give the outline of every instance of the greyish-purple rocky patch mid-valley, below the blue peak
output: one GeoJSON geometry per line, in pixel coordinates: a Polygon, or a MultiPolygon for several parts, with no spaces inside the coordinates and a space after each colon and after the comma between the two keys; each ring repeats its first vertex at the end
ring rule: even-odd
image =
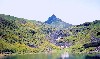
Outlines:
{"type": "Polygon", "coordinates": [[[57,46],[71,46],[70,42],[58,42],[59,39],[63,40],[64,37],[70,36],[69,32],[64,32],[63,30],[57,30],[50,34],[50,42],[57,46]]]}

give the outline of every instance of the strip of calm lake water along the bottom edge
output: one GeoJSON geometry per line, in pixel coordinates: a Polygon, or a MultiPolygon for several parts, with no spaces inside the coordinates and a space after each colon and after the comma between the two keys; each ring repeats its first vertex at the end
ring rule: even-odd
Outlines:
{"type": "Polygon", "coordinates": [[[49,53],[49,54],[26,54],[26,55],[14,55],[6,56],[1,59],[100,59],[100,55],[80,55],[80,54],[68,54],[68,53],[49,53]]]}

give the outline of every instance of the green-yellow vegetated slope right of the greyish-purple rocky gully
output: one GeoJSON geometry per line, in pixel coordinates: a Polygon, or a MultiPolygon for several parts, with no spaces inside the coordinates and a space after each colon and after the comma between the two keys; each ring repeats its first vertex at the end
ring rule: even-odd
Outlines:
{"type": "Polygon", "coordinates": [[[66,40],[73,42],[68,49],[72,53],[91,53],[100,51],[100,20],[72,27],[72,35],[66,40]]]}

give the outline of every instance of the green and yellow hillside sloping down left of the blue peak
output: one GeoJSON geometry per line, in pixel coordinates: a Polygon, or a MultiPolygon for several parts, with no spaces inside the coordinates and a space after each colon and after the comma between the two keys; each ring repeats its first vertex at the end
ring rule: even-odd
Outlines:
{"type": "Polygon", "coordinates": [[[37,53],[59,49],[46,39],[49,26],[35,20],[0,14],[0,53],[37,53]]]}

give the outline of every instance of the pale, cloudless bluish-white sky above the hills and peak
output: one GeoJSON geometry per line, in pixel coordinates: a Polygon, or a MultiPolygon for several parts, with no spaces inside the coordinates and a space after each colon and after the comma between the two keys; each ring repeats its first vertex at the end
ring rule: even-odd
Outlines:
{"type": "Polygon", "coordinates": [[[100,0],[0,0],[0,14],[42,22],[55,14],[79,25],[100,20],[100,0]]]}

